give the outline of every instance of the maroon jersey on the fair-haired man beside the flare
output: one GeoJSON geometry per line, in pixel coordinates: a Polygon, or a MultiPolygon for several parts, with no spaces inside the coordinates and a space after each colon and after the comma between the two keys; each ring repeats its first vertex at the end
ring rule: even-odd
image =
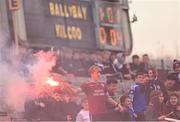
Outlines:
{"type": "Polygon", "coordinates": [[[81,85],[82,91],[87,95],[90,114],[106,113],[105,85],[99,82],[87,82],[81,85]]]}

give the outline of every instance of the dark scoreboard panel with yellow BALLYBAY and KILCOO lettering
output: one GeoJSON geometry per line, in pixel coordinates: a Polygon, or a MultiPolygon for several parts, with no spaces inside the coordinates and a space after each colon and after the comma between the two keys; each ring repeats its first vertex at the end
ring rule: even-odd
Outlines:
{"type": "Polygon", "coordinates": [[[82,0],[24,0],[30,43],[96,48],[92,4],[82,0]]]}

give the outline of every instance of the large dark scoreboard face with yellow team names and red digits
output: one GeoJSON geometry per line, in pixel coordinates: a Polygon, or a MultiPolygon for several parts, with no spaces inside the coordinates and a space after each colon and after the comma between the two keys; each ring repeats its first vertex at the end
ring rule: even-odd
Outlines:
{"type": "Polygon", "coordinates": [[[27,40],[50,47],[126,51],[126,0],[109,1],[23,0],[27,40]]]}

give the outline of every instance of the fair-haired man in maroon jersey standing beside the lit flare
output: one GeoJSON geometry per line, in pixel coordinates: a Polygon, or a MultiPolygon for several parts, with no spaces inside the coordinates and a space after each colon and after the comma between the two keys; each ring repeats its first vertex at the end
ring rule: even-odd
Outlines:
{"type": "Polygon", "coordinates": [[[105,121],[107,115],[106,101],[110,100],[115,106],[119,104],[108,98],[104,82],[100,80],[101,69],[93,65],[89,68],[90,80],[81,85],[82,91],[87,95],[90,116],[93,121],[105,121]]]}

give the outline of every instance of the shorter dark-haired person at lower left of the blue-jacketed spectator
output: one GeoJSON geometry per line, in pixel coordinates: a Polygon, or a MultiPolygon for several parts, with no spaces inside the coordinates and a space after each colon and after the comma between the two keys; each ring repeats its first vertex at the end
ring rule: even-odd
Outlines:
{"type": "Polygon", "coordinates": [[[120,98],[121,104],[123,106],[124,111],[122,112],[122,120],[123,121],[135,121],[137,115],[134,113],[132,100],[129,96],[123,95],[120,98]]]}

